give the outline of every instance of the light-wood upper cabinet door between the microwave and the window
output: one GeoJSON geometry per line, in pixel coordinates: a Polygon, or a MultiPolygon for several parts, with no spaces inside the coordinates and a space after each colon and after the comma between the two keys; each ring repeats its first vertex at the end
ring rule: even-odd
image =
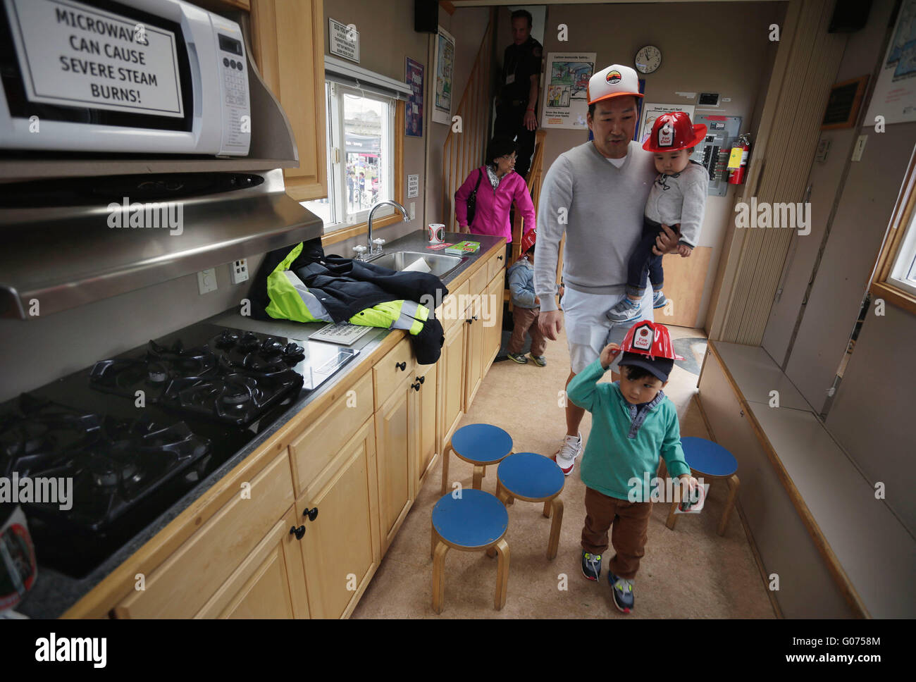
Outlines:
{"type": "Polygon", "coordinates": [[[257,69],[286,112],[296,139],[299,168],[284,169],[283,179],[287,194],[298,201],[328,196],[325,26],[323,0],[251,0],[257,69]]]}

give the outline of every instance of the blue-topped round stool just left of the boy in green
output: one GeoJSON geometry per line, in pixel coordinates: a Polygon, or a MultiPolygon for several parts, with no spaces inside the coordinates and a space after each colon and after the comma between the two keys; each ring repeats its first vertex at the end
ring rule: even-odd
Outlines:
{"type": "Polygon", "coordinates": [[[512,498],[526,502],[544,503],[543,514],[551,521],[551,537],[547,542],[547,558],[557,556],[560,527],[563,523],[563,501],[560,493],[566,477],[555,461],[535,452],[517,452],[499,462],[496,469],[496,496],[509,503],[512,498]]]}

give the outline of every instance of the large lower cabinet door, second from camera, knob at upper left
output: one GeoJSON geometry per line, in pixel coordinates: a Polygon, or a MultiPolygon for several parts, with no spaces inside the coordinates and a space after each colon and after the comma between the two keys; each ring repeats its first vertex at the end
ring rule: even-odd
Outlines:
{"type": "Polygon", "coordinates": [[[312,618],[340,618],[356,601],[378,566],[376,439],[367,419],[341,449],[339,466],[311,499],[297,501],[300,543],[312,618]],[[303,516],[317,508],[314,521],[303,516]]]}

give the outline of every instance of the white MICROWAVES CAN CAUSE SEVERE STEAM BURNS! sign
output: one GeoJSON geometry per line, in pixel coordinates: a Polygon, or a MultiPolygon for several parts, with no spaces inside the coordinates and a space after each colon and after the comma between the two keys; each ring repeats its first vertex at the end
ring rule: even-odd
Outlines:
{"type": "Polygon", "coordinates": [[[70,0],[5,0],[29,102],[184,116],[175,34],[70,0]]]}

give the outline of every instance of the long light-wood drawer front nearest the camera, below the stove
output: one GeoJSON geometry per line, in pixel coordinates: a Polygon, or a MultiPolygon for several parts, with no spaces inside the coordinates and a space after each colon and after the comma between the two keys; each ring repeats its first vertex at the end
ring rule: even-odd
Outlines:
{"type": "Polygon", "coordinates": [[[146,590],[127,597],[120,618],[188,618],[199,612],[293,503],[284,450],[147,576],[146,590]]]}

